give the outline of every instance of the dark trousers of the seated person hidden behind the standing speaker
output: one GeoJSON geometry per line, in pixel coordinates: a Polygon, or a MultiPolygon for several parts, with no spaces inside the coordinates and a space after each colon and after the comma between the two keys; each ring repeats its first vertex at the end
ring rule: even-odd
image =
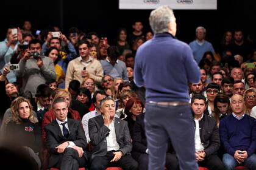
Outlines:
{"type": "MultiPolygon", "coordinates": [[[[138,161],[138,170],[147,170],[149,155],[146,153],[132,152],[132,157],[138,161]]],[[[165,168],[168,170],[179,170],[176,154],[166,153],[165,168]]]]}

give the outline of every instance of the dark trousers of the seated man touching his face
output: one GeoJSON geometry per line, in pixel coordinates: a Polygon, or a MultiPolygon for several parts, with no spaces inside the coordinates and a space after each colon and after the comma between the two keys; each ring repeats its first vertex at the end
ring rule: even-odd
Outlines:
{"type": "Polygon", "coordinates": [[[90,170],[105,170],[107,167],[118,166],[124,170],[136,170],[138,163],[131,155],[123,155],[118,161],[110,162],[114,158],[113,152],[108,151],[104,156],[96,156],[91,160],[90,170]]]}

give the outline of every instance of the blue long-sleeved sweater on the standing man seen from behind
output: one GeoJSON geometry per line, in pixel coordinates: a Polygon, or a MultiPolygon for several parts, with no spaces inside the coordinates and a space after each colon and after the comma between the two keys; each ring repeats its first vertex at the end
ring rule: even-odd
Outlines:
{"type": "Polygon", "coordinates": [[[200,80],[190,47],[169,33],[157,34],[145,42],[135,60],[135,82],[146,86],[148,101],[188,102],[187,83],[200,80]]]}

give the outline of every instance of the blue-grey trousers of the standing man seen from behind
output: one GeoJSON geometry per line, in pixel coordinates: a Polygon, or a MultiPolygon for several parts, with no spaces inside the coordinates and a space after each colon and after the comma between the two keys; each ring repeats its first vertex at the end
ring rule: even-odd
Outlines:
{"type": "Polygon", "coordinates": [[[149,149],[149,170],[164,169],[169,140],[176,151],[180,170],[198,169],[194,149],[191,108],[147,103],[144,118],[149,149]]]}

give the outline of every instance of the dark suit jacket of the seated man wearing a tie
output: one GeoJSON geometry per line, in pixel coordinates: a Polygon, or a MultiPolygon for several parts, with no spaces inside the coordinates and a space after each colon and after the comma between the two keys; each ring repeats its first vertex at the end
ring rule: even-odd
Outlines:
{"type": "MultiPolygon", "coordinates": [[[[56,120],[44,127],[46,131],[46,145],[48,147],[50,158],[49,167],[54,166],[61,158],[62,154],[59,154],[55,147],[65,141],[73,141],[76,146],[83,148],[87,147],[87,140],[81,123],[77,120],[68,118],[69,137],[66,138],[62,135],[60,126],[56,120]]],[[[87,154],[84,152],[84,157],[87,159],[87,154]]]]}

